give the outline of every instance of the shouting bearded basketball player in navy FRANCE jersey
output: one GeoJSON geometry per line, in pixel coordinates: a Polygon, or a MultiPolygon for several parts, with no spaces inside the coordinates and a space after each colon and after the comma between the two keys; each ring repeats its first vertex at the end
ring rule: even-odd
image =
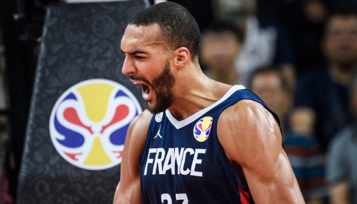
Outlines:
{"type": "Polygon", "coordinates": [[[122,72],[147,110],[129,126],[114,203],[304,203],[276,115],[243,86],[207,78],[199,40],[175,3],[129,22],[122,72]]]}

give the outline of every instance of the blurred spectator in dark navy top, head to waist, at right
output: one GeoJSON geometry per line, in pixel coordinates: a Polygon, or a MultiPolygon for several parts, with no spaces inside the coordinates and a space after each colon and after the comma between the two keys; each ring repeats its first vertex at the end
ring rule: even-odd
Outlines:
{"type": "Polygon", "coordinates": [[[352,118],[347,84],[357,64],[357,14],[331,15],[322,47],[329,66],[301,77],[291,122],[296,134],[315,135],[325,150],[331,138],[352,118]]]}

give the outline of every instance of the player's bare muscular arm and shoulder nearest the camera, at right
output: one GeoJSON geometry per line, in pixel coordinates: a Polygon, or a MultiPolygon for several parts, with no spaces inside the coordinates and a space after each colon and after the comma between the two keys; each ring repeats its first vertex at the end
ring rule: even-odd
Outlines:
{"type": "Polygon", "coordinates": [[[222,112],[217,127],[228,158],[242,166],[255,203],[304,203],[280,129],[267,109],[242,100],[222,112]]]}

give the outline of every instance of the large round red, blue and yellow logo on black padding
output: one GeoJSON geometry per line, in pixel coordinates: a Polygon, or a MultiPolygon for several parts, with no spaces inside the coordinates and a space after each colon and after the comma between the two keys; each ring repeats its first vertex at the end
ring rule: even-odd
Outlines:
{"type": "Polygon", "coordinates": [[[105,79],[82,81],[53,107],[51,139],[70,164],[107,169],[122,162],[129,123],[140,112],[138,101],[123,85],[105,79]]]}

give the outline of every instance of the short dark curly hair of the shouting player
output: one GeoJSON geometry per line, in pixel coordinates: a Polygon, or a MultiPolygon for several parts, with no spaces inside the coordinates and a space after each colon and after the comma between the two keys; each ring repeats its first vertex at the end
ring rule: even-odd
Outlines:
{"type": "Polygon", "coordinates": [[[198,55],[200,29],[195,18],[179,4],[164,2],[137,13],[129,25],[150,26],[158,24],[169,46],[176,50],[185,47],[192,59],[198,55]]]}

